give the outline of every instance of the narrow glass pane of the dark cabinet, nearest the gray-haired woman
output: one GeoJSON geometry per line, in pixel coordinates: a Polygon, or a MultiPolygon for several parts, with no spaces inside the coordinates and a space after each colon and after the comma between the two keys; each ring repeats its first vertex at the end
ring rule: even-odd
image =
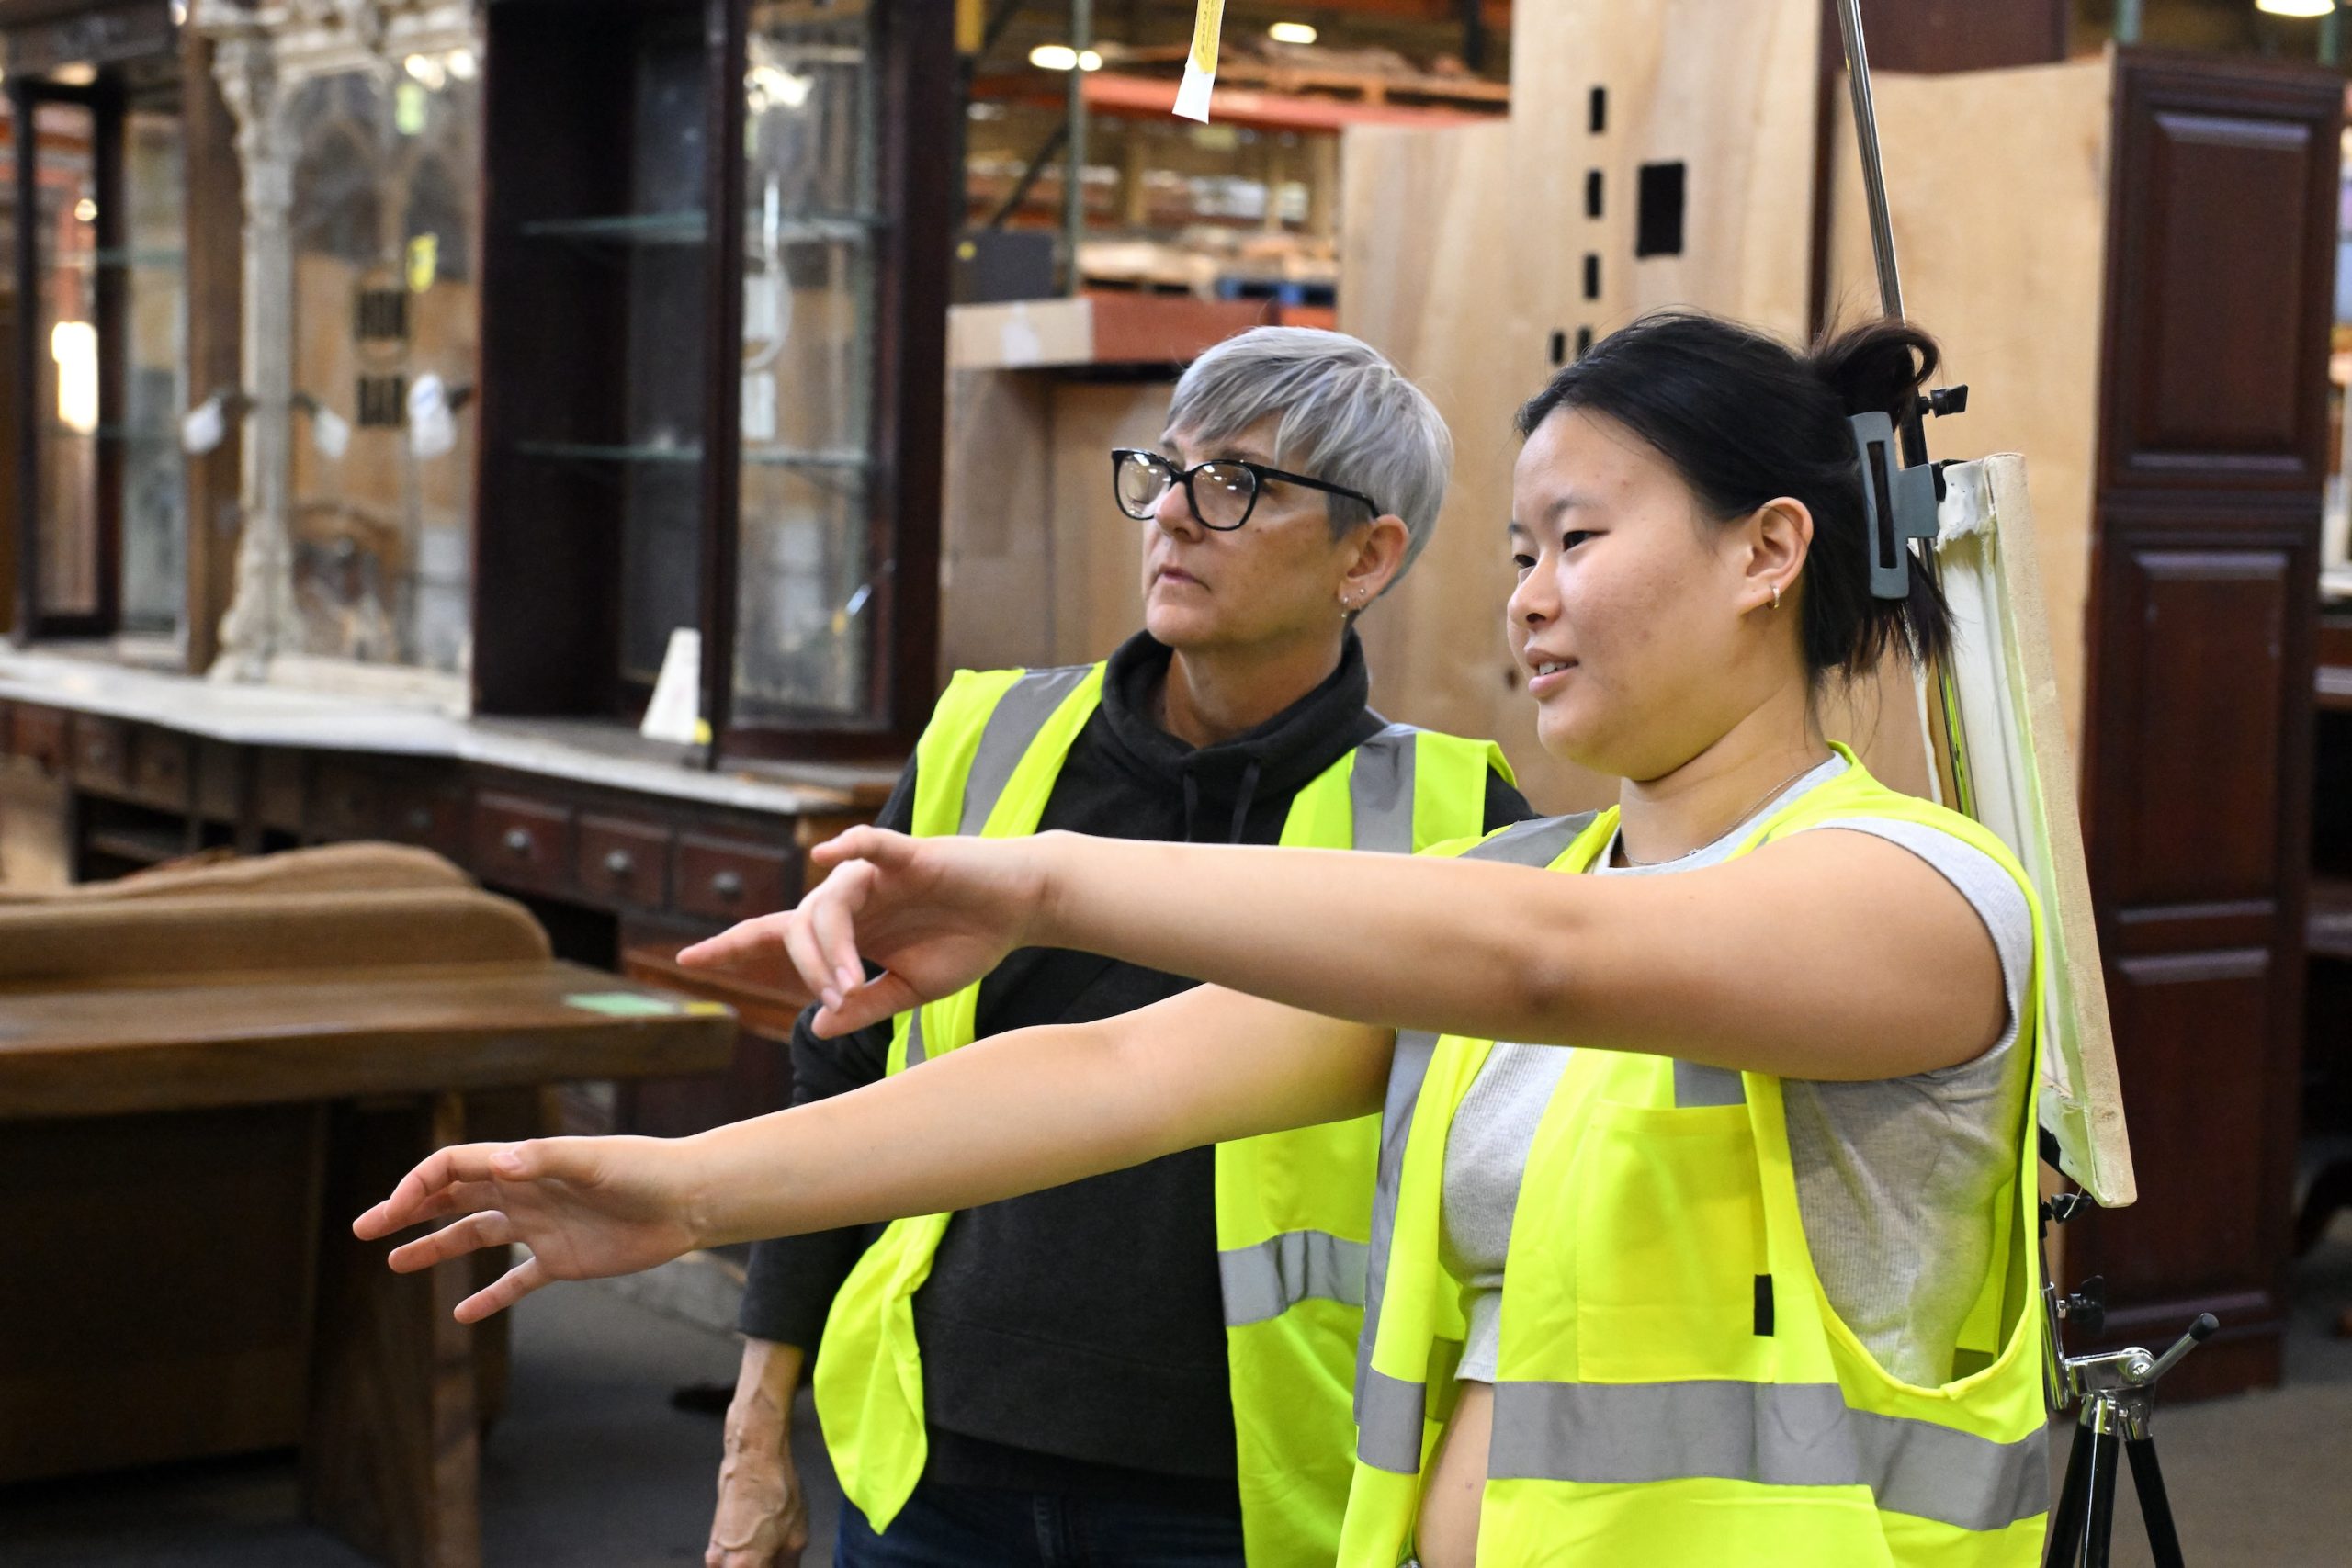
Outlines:
{"type": "Polygon", "coordinates": [[[875,19],[753,5],[734,722],[873,708],[875,19]]]}

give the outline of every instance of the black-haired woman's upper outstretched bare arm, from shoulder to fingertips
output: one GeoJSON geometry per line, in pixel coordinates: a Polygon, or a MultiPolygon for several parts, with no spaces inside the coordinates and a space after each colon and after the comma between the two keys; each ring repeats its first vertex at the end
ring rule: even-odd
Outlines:
{"type": "Polygon", "coordinates": [[[1999,957],[1907,849],[1804,832],[1675,877],[1308,849],[1040,835],[816,851],[797,910],[684,957],[795,969],[856,1027],[1021,945],[1084,947],[1390,1030],[1653,1051],[1806,1079],[1889,1079],[1983,1053],[1999,957]],[[858,957],[887,966],[868,983],[858,957]]]}

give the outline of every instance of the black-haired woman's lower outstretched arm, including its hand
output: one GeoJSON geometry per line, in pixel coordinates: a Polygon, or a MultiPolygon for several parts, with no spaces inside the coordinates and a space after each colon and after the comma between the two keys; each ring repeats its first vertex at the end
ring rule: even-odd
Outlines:
{"type": "Polygon", "coordinates": [[[1018,1030],[856,1093],[694,1138],[463,1145],[353,1225],[463,1215],[393,1251],[400,1272],[482,1246],[532,1260],[461,1321],[550,1279],[654,1267],[696,1246],[971,1208],[1160,1154],[1378,1110],[1392,1037],[1225,990],[1103,1023],[1018,1030]]]}

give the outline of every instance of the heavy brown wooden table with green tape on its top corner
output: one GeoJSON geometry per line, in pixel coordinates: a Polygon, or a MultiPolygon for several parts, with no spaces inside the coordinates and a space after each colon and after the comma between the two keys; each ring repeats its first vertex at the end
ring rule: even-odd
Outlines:
{"type": "Polygon", "coordinates": [[[449,1309],[503,1260],[393,1274],[350,1220],[440,1145],[529,1133],[482,1091],[708,1072],[731,1032],[548,961],[9,990],[0,1479],[299,1443],[315,1521],[473,1568],[503,1340],[449,1309]]]}

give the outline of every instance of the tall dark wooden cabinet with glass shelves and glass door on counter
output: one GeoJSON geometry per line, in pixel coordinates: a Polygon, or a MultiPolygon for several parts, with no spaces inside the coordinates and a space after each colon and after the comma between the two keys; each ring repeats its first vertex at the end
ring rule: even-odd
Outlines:
{"type": "Polygon", "coordinates": [[[953,7],[496,0],[487,31],[477,710],[635,717],[699,628],[720,752],[903,755],[953,7]]]}

